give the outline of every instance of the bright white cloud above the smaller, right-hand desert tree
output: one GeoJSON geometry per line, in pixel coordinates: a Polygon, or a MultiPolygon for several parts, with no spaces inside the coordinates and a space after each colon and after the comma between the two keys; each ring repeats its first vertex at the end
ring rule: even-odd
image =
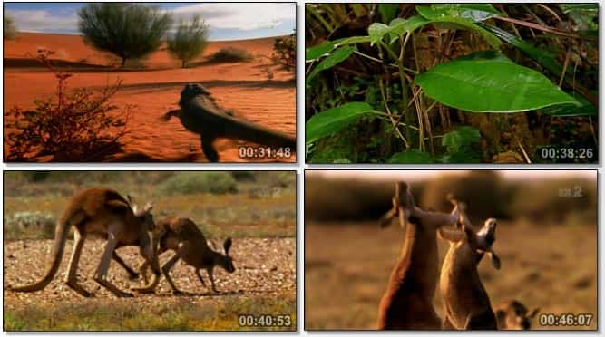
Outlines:
{"type": "Polygon", "coordinates": [[[290,22],[296,25],[296,4],[286,3],[222,3],[191,4],[171,10],[176,19],[200,14],[213,29],[239,29],[249,31],[273,28],[290,22]]]}

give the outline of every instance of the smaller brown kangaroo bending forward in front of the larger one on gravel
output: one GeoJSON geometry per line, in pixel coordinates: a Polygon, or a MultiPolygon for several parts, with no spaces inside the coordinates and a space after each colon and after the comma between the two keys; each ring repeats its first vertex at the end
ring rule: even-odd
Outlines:
{"type": "MultiPolygon", "coordinates": [[[[225,254],[220,254],[213,251],[208,246],[206,237],[201,233],[200,228],[188,218],[171,217],[164,218],[157,224],[157,229],[154,232],[155,240],[158,242],[158,253],[161,255],[165,251],[171,249],[175,252],[174,255],[161,266],[161,272],[166,276],[166,281],[171,285],[174,294],[182,294],[172,282],[170,271],[172,267],[182,259],[187,265],[195,268],[195,274],[198,275],[201,285],[205,288],[206,283],[201,277],[200,269],[206,269],[206,273],[210,278],[212,292],[219,293],[215,284],[212,272],[215,266],[220,266],[229,274],[235,272],[233,259],[229,255],[231,248],[231,238],[228,237],[223,243],[225,254]]],[[[143,262],[140,268],[140,273],[143,279],[147,279],[147,268],[149,263],[143,262]]]]}

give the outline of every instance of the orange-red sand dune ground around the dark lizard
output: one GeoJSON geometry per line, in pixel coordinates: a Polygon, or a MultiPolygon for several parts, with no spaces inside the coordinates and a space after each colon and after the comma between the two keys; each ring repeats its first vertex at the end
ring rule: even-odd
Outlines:
{"type": "MultiPolygon", "coordinates": [[[[181,69],[180,61],[171,58],[162,47],[144,61],[145,69],[120,71],[106,68],[117,63],[114,56],[95,51],[79,35],[22,33],[16,40],[4,43],[4,109],[6,112],[15,105],[33,108],[34,100],[54,96],[54,75],[33,59],[36,51],[44,48],[55,52],[53,58],[61,61],[62,70],[73,73],[68,80],[69,89],[102,89],[106,83],[122,80],[122,89],[112,102],[121,108],[126,104],[136,107],[128,121],[130,133],[121,141],[122,152],[107,160],[207,161],[199,136],[185,130],[177,119],[159,120],[164,112],[178,109],[181,89],[188,82],[204,85],[221,107],[235,111],[239,117],[296,135],[294,73],[281,70],[268,59],[273,53],[273,42],[274,38],[212,42],[200,60],[194,61],[203,62],[220,48],[232,46],[257,56],[249,63],[201,63],[181,69]],[[266,69],[273,73],[271,80],[266,69]]],[[[241,162],[250,159],[239,158],[239,147],[255,144],[216,140],[215,145],[220,161],[241,162]]]]}

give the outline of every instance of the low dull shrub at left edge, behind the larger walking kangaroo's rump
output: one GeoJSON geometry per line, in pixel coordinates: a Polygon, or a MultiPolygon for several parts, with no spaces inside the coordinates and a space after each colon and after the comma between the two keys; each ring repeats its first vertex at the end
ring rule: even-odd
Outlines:
{"type": "Polygon", "coordinates": [[[17,212],[4,218],[4,235],[8,239],[54,238],[56,219],[47,213],[17,212]]]}

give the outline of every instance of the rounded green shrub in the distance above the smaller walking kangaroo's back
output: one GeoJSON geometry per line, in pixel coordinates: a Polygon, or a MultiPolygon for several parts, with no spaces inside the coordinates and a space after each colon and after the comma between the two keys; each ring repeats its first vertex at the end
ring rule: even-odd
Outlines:
{"type": "Polygon", "coordinates": [[[161,194],[226,194],[238,191],[238,183],[229,172],[181,172],[166,179],[158,188],[161,194]]]}

